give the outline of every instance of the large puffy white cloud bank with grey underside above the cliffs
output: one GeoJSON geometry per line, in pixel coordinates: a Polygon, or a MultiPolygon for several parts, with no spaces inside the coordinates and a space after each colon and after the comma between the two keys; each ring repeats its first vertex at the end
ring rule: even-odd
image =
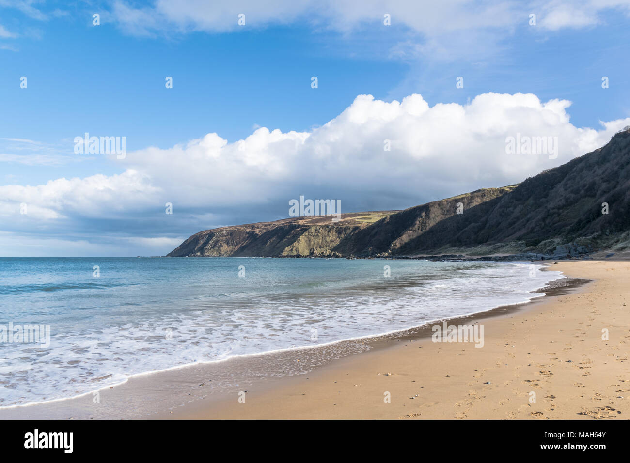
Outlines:
{"type": "Polygon", "coordinates": [[[0,216],[4,231],[138,236],[145,239],[138,246],[166,253],[181,236],[205,228],[287,217],[289,200],[299,195],[340,199],[342,213],[402,209],[518,183],[603,146],[630,125],[627,118],[575,127],[569,106],[521,93],[434,106],[419,94],[391,103],[359,95],[309,132],[260,127],[234,142],[211,133],[125,159],[112,155],[120,174],[0,186],[0,216]],[[557,137],[557,157],[508,154],[507,137],[518,134],[557,137]],[[173,215],[165,214],[167,202],[173,215]],[[20,213],[23,203],[28,214],[20,213]]]}

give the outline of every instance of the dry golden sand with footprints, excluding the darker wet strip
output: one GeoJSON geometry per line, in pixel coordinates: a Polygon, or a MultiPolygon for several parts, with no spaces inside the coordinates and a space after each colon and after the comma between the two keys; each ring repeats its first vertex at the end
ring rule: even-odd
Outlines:
{"type": "Polygon", "coordinates": [[[400,340],[248,391],[244,403],[232,394],[207,406],[195,401],[163,418],[627,418],[630,262],[551,266],[592,282],[482,319],[483,348],[434,343],[427,336],[400,340]]]}

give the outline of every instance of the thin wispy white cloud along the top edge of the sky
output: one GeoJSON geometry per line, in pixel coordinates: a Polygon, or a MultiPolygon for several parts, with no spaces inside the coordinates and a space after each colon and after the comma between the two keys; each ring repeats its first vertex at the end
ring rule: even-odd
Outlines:
{"type": "Polygon", "coordinates": [[[331,37],[343,40],[354,35],[363,43],[382,43],[391,59],[461,62],[488,60],[512,49],[510,38],[519,29],[547,38],[564,28],[603,24],[609,11],[630,16],[630,0],[156,0],[140,7],[117,0],[108,16],[125,33],[149,36],[301,23],[312,31],[334,31],[338,35],[331,37]],[[238,25],[241,13],[245,26],[238,25]],[[529,26],[532,13],[535,28],[529,26]],[[384,14],[390,15],[391,26],[384,26],[384,14]]]}

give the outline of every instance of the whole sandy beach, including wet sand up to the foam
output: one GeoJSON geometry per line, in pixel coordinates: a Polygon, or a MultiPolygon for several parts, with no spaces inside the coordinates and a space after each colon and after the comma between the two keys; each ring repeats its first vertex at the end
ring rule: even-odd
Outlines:
{"type": "Polygon", "coordinates": [[[546,296],[448,321],[483,326],[481,347],[433,342],[430,323],[139,375],[0,420],[626,419],[630,261],[548,268],[569,278],[546,296]]]}

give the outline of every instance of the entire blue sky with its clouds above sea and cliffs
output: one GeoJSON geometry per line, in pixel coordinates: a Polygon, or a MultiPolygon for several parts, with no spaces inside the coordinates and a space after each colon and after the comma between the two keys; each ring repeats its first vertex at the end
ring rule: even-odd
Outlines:
{"type": "Polygon", "coordinates": [[[612,2],[614,8],[595,1],[351,4],[0,0],[0,255],[165,254],[202,229],[286,217],[287,201],[300,194],[341,198],[346,212],[403,209],[523,180],[594,149],[630,117],[627,2],[612,2]],[[239,12],[246,14],[244,26],[237,24],[239,12]],[[388,12],[390,26],[383,24],[388,12]],[[530,13],[537,14],[536,25],[529,24],[530,13]],[[172,89],[164,86],[166,76],[173,77],[172,89]],[[458,76],[464,88],[455,87],[458,76]],[[505,96],[467,106],[488,93],[505,96]],[[513,98],[518,93],[535,95],[541,105],[571,105],[534,104],[532,110],[513,98]],[[430,119],[382,120],[387,103],[411,94],[433,108],[430,119]],[[358,95],[374,97],[357,109],[374,111],[373,120],[360,117],[359,127],[350,117],[345,126],[341,115],[358,106],[358,95]],[[454,112],[443,114],[442,103],[454,112]],[[461,108],[460,130],[474,134],[466,144],[448,130],[461,108]],[[506,129],[506,118],[516,131],[557,132],[566,149],[553,165],[512,159],[488,168],[506,162],[500,144],[498,160],[484,157],[495,138],[515,131],[506,129]],[[322,127],[331,120],[333,127],[322,127]],[[491,120],[496,127],[484,125],[491,120]],[[444,132],[433,129],[440,139],[423,147],[415,134],[434,122],[444,132]],[[604,129],[600,122],[611,125],[604,129]],[[396,132],[404,152],[397,154],[398,168],[384,163],[384,175],[382,149],[366,147],[364,139],[377,132],[386,139],[381,132],[391,132],[390,123],[406,127],[396,132]],[[261,127],[309,137],[251,139],[241,171],[229,149],[261,127]],[[74,154],[73,139],[84,132],[126,137],[129,156],[74,154]],[[198,148],[225,154],[206,153],[200,162],[190,143],[213,133],[224,142],[198,148]],[[451,146],[442,142],[451,138],[451,146]],[[451,167],[442,163],[449,156],[451,167]],[[466,176],[452,168],[462,162],[458,156],[476,161],[466,176]],[[195,174],[207,169],[216,186],[203,176],[198,184],[189,181],[186,166],[195,174]],[[432,174],[424,181],[406,178],[414,170],[432,174]],[[99,177],[86,180],[93,176],[99,177]],[[77,181],[61,185],[64,178],[77,181]],[[50,181],[59,185],[38,188],[50,181]],[[105,198],[93,196],[103,190],[105,198]],[[164,217],[170,197],[175,214],[164,217]],[[21,203],[33,212],[12,218],[21,203]]]}

